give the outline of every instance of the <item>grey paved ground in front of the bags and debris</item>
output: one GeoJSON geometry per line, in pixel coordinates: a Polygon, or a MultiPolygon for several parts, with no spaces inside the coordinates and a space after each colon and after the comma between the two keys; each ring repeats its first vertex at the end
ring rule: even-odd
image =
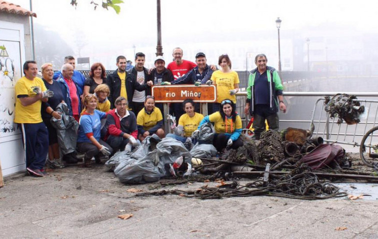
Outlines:
{"type": "MultiPolygon", "coordinates": [[[[204,184],[213,183],[164,189],[204,184]]],[[[199,200],[126,192],[158,186],[123,185],[104,166],[69,167],[44,178],[6,178],[0,189],[0,238],[378,238],[376,200],[199,200]],[[121,220],[121,214],[133,217],[121,220]]]]}

